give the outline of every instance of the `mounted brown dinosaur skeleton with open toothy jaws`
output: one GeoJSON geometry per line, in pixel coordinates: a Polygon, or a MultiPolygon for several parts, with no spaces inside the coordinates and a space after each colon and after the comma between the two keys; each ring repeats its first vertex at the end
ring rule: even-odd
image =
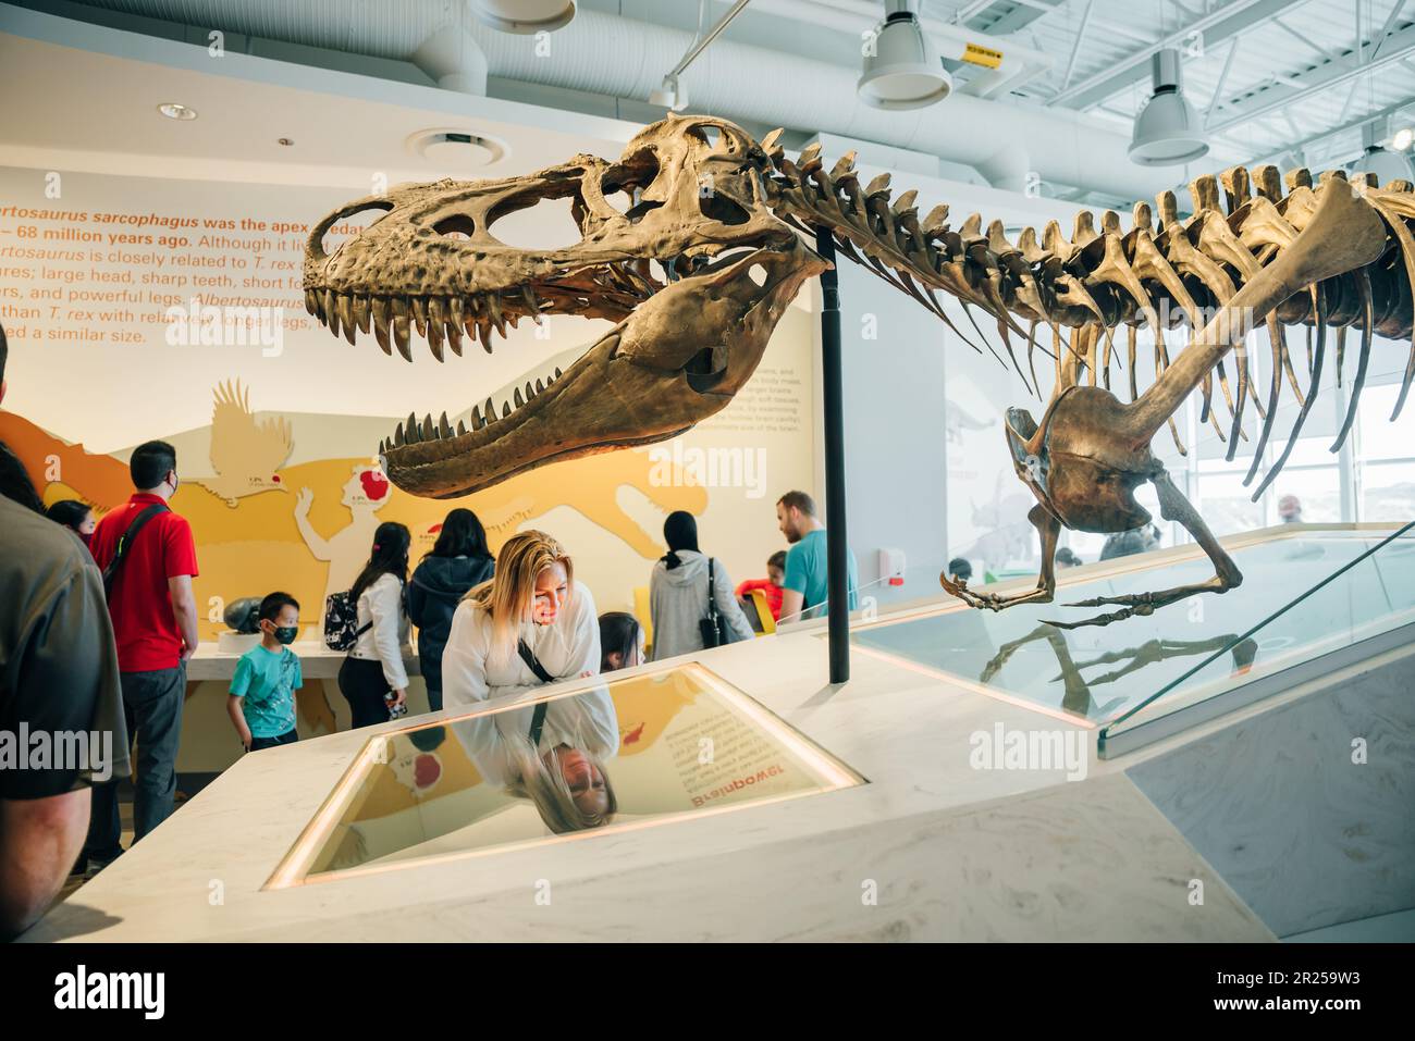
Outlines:
{"type": "MultiPolygon", "coordinates": [[[[1184,525],[1213,560],[1215,574],[1203,583],[1087,601],[1121,605],[1091,620],[1105,624],[1242,581],[1150,454],[1150,440],[1165,426],[1184,451],[1173,416],[1190,393],[1201,392],[1201,421],[1227,441],[1230,460],[1247,438],[1242,417],[1252,399],[1262,427],[1251,482],[1283,383],[1290,389],[1299,413],[1257,498],[1286,463],[1317,397],[1329,330],[1337,330],[1339,378],[1346,331],[1361,330],[1350,407],[1333,450],[1354,421],[1373,334],[1412,335],[1415,239],[1407,221],[1415,218],[1415,194],[1408,182],[1378,188],[1332,171],[1313,185],[1307,171],[1296,170],[1283,192],[1275,167],[1251,178],[1234,167],[1221,178],[1193,181],[1189,219],[1179,218],[1174,195],[1163,192],[1157,221],[1149,205],[1138,204],[1128,232],[1114,212],[1101,216],[1099,229],[1092,214],[1081,212],[1070,242],[1051,222],[1040,242],[1026,229],[1012,243],[1000,222],[983,229],[976,214],[955,226],[948,207],[937,207],[920,219],[916,192],[891,201],[887,174],[862,187],[850,154],[829,171],[818,146],[791,161],[780,136],[777,130],[758,144],[727,120],[671,115],[637,134],[618,163],[576,156],[528,177],[400,185],[316,225],[306,248],[306,306],[350,342],[355,330],[372,331],[385,354],[396,349],[412,361],[416,330],[443,361],[447,347],[461,354],[463,334],[490,352],[492,331],[505,335],[507,324],[525,317],[617,322],[567,372],[556,371],[549,383],[528,382],[524,395],[518,389],[514,409],[504,403],[499,416],[490,399],[485,410],[473,407],[470,427],[458,423],[456,430],[446,413],[436,423],[430,414],[422,421],[409,414],[379,446],[389,478],[412,494],[447,498],[546,463],[683,433],[732,400],[791,298],[828,267],[807,245],[825,229],[843,256],[917,300],[965,342],[938,294],[962,303],[982,339],[974,311],[986,314],[1029,390],[1041,392],[1036,352],[1053,359],[1040,423],[1024,409],[1009,409],[1006,424],[1016,472],[1037,499],[1027,515],[1041,537],[1037,584],[999,595],[941,576],[949,593],[990,610],[1050,603],[1061,528],[1111,533],[1149,523],[1135,501],[1145,481],[1155,484],[1165,519],[1184,525]],[[617,208],[611,199],[621,197],[628,205],[617,208]],[[579,243],[529,250],[495,238],[505,214],[562,198],[570,199],[579,243]],[[325,232],[366,209],[385,214],[327,255],[325,232]],[[1170,361],[1165,331],[1179,324],[1189,327],[1189,342],[1170,361]],[[1136,380],[1142,325],[1153,334],[1156,373],[1143,393],[1136,380]],[[1306,392],[1288,351],[1288,325],[1309,328],[1306,392]],[[1050,330],[1050,349],[1039,344],[1039,327],[1050,330]],[[1109,389],[1122,327],[1129,372],[1124,402],[1109,389]],[[1242,347],[1257,328],[1266,331],[1272,351],[1265,402],[1242,347]],[[1013,337],[1026,345],[1026,368],[1013,337]],[[1225,355],[1235,345],[1230,379],[1225,355]],[[1214,376],[1227,420],[1214,403],[1214,376]]],[[[1415,349],[1397,414],[1412,376],[1415,349]]]]}

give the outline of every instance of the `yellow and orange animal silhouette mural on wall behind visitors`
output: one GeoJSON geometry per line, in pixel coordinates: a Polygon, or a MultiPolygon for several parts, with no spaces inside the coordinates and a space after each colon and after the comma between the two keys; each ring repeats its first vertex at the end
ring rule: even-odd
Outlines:
{"type": "MultiPolygon", "coordinates": [[[[369,420],[371,430],[386,426],[383,419],[369,420]]],[[[0,413],[0,441],[24,463],[45,502],[81,498],[103,512],[133,491],[125,461],[86,453],[14,413],[0,413]]],[[[665,484],[655,472],[662,464],[655,465],[644,453],[590,455],[532,470],[460,499],[420,499],[389,484],[366,457],[311,460],[276,474],[291,447],[287,419],[258,423],[238,383],[215,389],[211,461],[218,474],[192,474],[171,499],[171,508],[191,522],[197,539],[201,574],[192,588],[202,639],[215,639],[225,629],[221,615],[228,603],[273,590],[300,601],[301,628],[317,625],[324,598],[352,584],[368,559],[374,530],[383,520],[408,525],[416,563],[432,549],[443,518],[456,506],[477,513],[492,553],[516,530],[552,509],[569,506],[638,556],[654,560],[664,552],[659,532],[645,530],[620,506],[621,488],[637,489],[662,513],[702,513],[708,508],[706,489],[689,484],[681,471],[665,484]],[[279,488],[299,492],[293,501],[286,494],[258,494],[279,488]]],[[[178,460],[178,472],[192,470],[178,460]]],[[[593,547],[572,547],[572,553],[587,552],[593,547]]]]}

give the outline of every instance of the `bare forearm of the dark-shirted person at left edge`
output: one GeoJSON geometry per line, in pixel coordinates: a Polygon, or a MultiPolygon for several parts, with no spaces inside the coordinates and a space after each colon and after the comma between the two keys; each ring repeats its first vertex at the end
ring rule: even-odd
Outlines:
{"type": "Polygon", "coordinates": [[[59,895],[88,836],[92,789],[0,799],[0,942],[34,925],[59,895]]]}

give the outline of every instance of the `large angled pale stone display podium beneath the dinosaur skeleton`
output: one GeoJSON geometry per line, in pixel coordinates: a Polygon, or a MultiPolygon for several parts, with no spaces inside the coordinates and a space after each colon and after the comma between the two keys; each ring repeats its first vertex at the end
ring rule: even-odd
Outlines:
{"type": "Polygon", "coordinates": [[[931,590],[857,614],[845,685],[804,622],[253,752],[24,939],[1271,942],[1408,921],[1412,532],[1224,545],[1240,588],[1107,627],[1043,622],[1204,577],[1193,547],[1064,571],[1053,605],[931,590]],[[559,758],[516,744],[536,702],[559,758]]]}

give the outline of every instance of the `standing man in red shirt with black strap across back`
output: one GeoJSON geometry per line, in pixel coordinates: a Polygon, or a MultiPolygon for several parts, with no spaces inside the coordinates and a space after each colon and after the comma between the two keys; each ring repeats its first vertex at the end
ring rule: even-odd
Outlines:
{"type": "MultiPolygon", "coordinates": [[[[177,494],[175,448],[166,441],[140,444],[133,450],[129,471],[137,492],[99,520],[89,549],[106,571],[123,533],[144,511],[154,509],[129,540],[108,598],[127,733],[137,740],[133,771],[133,842],[137,842],[171,815],[177,792],[187,659],[197,649],[197,601],[191,593],[197,547],[191,525],[167,508],[167,499],[177,494]]],[[[120,836],[117,792],[113,785],[96,785],[85,844],[89,871],[100,870],[123,851],[120,836]]]]}

